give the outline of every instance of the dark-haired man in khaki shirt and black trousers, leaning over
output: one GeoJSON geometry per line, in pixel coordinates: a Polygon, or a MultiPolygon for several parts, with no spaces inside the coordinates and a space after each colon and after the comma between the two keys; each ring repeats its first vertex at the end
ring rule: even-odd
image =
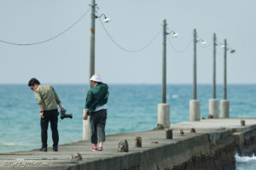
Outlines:
{"type": "Polygon", "coordinates": [[[53,150],[58,151],[59,133],[58,133],[58,106],[62,110],[61,100],[55,93],[55,89],[49,85],[40,85],[36,78],[28,82],[28,86],[34,91],[38,100],[38,106],[41,116],[41,140],[42,148],[40,151],[47,151],[47,129],[50,122],[50,128],[53,139],[53,150]]]}

